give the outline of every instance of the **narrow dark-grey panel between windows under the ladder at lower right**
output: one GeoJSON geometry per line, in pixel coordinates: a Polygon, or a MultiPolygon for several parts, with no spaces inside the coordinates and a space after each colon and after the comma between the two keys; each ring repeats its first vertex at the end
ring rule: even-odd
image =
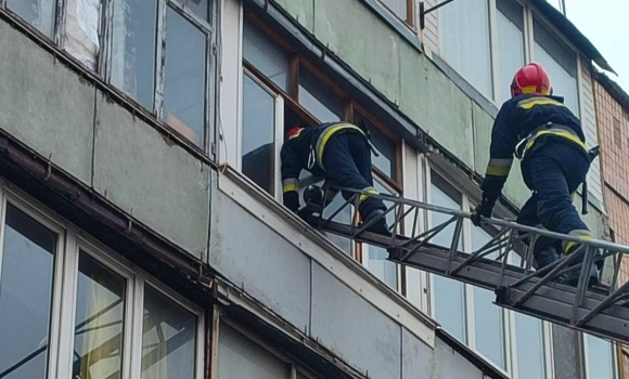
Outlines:
{"type": "Polygon", "coordinates": [[[553,325],[553,354],[555,379],[575,379],[578,376],[577,336],[572,329],[553,325]]]}

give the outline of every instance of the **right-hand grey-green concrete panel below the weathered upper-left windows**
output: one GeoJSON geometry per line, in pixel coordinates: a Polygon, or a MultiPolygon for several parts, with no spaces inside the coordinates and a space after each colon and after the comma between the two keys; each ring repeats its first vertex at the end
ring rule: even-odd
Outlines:
{"type": "Polygon", "coordinates": [[[193,256],[209,233],[209,168],[102,94],[94,188],[193,256]]]}

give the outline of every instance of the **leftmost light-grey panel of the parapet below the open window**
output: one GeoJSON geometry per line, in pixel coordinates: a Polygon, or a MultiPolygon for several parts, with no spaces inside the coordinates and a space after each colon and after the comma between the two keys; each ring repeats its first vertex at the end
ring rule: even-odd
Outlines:
{"type": "Polygon", "coordinates": [[[310,323],[310,259],[218,192],[209,264],[300,330],[310,323]]]}

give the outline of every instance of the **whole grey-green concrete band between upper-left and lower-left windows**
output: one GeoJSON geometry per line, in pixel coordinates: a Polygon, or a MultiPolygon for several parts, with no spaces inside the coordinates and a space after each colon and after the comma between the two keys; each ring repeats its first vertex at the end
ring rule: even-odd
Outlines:
{"type": "Polygon", "coordinates": [[[209,168],[0,22],[0,128],[179,245],[205,256],[209,168]]]}

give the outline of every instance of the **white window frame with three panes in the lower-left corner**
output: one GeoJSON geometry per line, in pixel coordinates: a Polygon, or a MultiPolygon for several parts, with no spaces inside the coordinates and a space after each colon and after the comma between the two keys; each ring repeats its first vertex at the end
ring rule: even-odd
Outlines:
{"type": "Polygon", "coordinates": [[[81,252],[127,280],[124,311],[123,379],[139,379],[141,377],[143,295],[146,284],[196,316],[195,379],[204,378],[206,315],[201,306],[184,299],[157,278],[104,247],[93,237],[56,215],[55,212],[31,199],[22,191],[12,187],[2,178],[0,178],[0,221],[2,222],[0,224],[0,264],[2,262],[3,244],[1,241],[4,238],[7,204],[11,204],[52,233],[57,234],[52,312],[48,336],[48,378],[69,378],[72,376],[78,261],[81,252]]]}

